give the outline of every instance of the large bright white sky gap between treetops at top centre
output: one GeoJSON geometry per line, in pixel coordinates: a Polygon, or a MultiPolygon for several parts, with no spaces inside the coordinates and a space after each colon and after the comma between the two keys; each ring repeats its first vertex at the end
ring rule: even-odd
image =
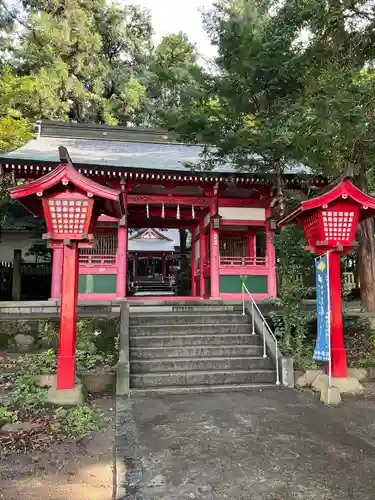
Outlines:
{"type": "Polygon", "coordinates": [[[215,54],[198,11],[200,7],[209,9],[213,0],[125,0],[125,3],[138,4],[151,11],[157,39],[171,32],[184,31],[197,45],[202,57],[215,54]]]}

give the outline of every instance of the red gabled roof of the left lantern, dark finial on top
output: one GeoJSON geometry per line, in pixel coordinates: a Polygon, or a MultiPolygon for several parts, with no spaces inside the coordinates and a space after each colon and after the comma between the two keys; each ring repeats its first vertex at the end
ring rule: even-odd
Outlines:
{"type": "Polygon", "coordinates": [[[17,199],[32,214],[43,215],[42,204],[37,196],[41,193],[52,194],[53,188],[59,184],[66,186],[73,184],[97,202],[96,207],[100,213],[121,218],[124,213],[121,192],[80,174],[70,162],[65,148],[59,148],[59,153],[60,158],[64,160],[63,163],[35,181],[9,189],[10,196],[17,199]]]}

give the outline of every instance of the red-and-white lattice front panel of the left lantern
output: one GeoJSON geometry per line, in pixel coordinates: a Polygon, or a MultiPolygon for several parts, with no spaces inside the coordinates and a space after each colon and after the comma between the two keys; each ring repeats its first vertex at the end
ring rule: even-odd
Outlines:
{"type": "Polygon", "coordinates": [[[57,234],[81,234],[85,229],[87,200],[48,200],[51,222],[57,234]]]}

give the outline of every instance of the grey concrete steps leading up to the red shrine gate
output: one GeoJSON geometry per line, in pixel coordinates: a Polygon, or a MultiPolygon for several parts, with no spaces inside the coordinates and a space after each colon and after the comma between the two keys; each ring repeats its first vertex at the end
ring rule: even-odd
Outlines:
{"type": "Polygon", "coordinates": [[[241,306],[132,308],[133,395],[244,391],[274,386],[274,363],[241,306]],[[138,310],[137,310],[138,309],[138,310]],[[147,309],[150,312],[147,312],[147,309]]]}

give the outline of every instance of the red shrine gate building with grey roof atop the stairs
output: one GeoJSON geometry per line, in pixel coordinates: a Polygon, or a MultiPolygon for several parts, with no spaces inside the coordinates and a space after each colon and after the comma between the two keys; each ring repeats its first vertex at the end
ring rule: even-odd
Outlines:
{"type": "MultiPolygon", "coordinates": [[[[95,246],[80,249],[79,299],[136,299],[135,281],[176,279],[186,260],[186,298],[240,299],[243,281],[255,300],[276,296],[271,175],[228,164],[202,171],[203,146],[162,130],[51,121],[38,122],[33,139],[0,157],[1,175],[20,184],[51,172],[61,163],[59,146],[79,173],[118,190],[125,208],[121,219],[99,216],[95,246]],[[181,230],[189,235],[184,252],[181,230]]],[[[300,187],[296,174],[284,174],[288,189],[300,187]]],[[[312,189],[324,183],[306,182],[312,189]]],[[[57,218],[65,209],[56,207],[57,218]]],[[[51,298],[60,297],[61,269],[62,249],[54,248],[51,298]]]]}

